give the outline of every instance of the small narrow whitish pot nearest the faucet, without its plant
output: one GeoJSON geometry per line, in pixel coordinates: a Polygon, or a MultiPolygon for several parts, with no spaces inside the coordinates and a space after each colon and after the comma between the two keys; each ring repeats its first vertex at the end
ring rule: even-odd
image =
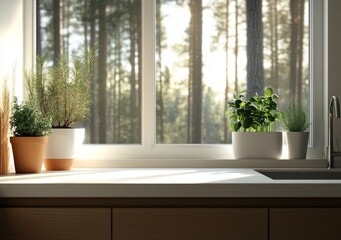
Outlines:
{"type": "Polygon", "coordinates": [[[305,159],[309,142],[309,132],[286,132],[289,159],[305,159]]]}

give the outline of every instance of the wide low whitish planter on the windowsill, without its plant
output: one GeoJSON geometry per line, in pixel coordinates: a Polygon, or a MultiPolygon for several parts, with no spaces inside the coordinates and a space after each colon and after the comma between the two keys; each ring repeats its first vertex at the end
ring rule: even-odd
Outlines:
{"type": "Polygon", "coordinates": [[[232,132],[236,159],[279,159],[282,156],[281,132],[232,132]]]}

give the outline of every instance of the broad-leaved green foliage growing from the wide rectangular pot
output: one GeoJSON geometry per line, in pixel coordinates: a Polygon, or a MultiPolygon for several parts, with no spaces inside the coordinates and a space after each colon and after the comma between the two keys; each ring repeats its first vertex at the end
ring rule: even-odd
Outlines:
{"type": "Polygon", "coordinates": [[[241,132],[274,131],[280,115],[277,99],[279,97],[273,93],[272,88],[266,88],[264,96],[256,93],[249,100],[246,100],[243,92],[235,94],[225,112],[230,128],[241,132]]]}

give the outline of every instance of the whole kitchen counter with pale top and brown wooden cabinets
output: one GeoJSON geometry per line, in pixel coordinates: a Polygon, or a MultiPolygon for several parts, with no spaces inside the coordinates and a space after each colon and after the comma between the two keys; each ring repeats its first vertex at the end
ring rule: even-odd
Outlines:
{"type": "Polygon", "coordinates": [[[341,180],[272,180],[252,168],[0,177],[5,239],[336,240],[340,219],[341,180]]]}

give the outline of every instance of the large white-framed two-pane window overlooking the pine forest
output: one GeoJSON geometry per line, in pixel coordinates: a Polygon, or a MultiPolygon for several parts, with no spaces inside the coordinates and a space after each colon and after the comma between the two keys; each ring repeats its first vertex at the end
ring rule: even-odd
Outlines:
{"type": "Polygon", "coordinates": [[[323,72],[318,62],[322,5],[315,0],[40,0],[37,53],[53,59],[71,56],[84,44],[97,48],[83,158],[232,158],[226,100],[235,91],[268,85],[280,95],[280,106],[291,99],[305,106],[312,123],[308,156],[320,157],[322,106],[316,103],[323,83],[316,79],[323,72]],[[263,50],[251,54],[258,58],[248,61],[248,52],[259,47],[263,50]]]}

